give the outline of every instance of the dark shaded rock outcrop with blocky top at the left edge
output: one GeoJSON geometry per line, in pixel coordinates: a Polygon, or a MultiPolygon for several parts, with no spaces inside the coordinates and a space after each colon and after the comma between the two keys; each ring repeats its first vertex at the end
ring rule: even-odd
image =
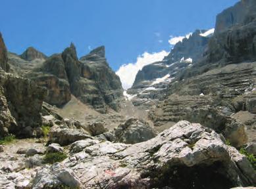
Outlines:
{"type": "Polygon", "coordinates": [[[3,90],[1,114],[8,115],[1,120],[5,131],[1,135],[12,133],[18,137],[39,137],[40,112],[46,91],[28,79],[14,77],[4,72],[0,73],[0,86],[3,90]]]}

